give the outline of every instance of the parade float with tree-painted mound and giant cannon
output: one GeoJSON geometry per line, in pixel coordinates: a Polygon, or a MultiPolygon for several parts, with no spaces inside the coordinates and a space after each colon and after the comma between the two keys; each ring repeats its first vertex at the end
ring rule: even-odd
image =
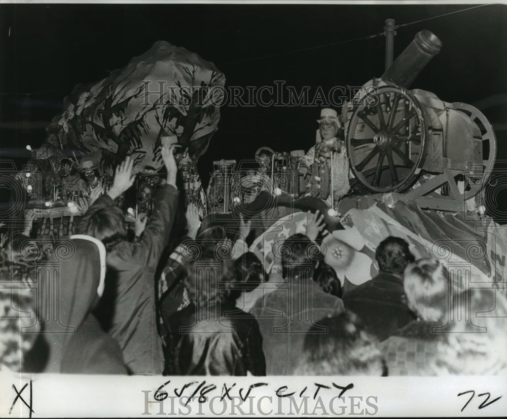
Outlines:
{"type": "Polygon", "coordinates": [[[198,205],[204,227],[235,232],[241,217],[251,219],[250,250],[267,271],[276,244],[304,233],[306,211],[318,209],[331,232],[324,244],[350,255],[334,264],[342,282],[371,279],[377,273],[375,248],[392,235],[405,238],[416,257],[445,260],[461,286],[481,283],[505,291],[507,232],[485,215],[484,187],[496,158],[491,124],[471,105],[411,89],[441,47],[435,34],[418,32],[381,77],[338,110],[350,189],[335,199],[333,164],[304,174],[303,150],[275,151],[270,144],[250,162],[215,161],[205,193],[196,162],[217,130],[220,108],[210,92],[225,85],[225,76],[198,55],[157,42],[126,67],[76,86],[66,98],[44,144],[17,176],[31,197],[28,207],[40,214],[35,234],[54,239],[72,234],[81,215],[76,200],[87,195],[83,178],[76,176],[84,160],[92,162],[87,167],[96,170],[105,193],[115,166],[130,156],[135,191],[117,205],[134,215],[150,212],[163,166],[161,139],[175,136],[182,146],[177,160],[184,203],[198,205]],[[323,185],[318,191],[306,188],[312,176],[323,185]]]}

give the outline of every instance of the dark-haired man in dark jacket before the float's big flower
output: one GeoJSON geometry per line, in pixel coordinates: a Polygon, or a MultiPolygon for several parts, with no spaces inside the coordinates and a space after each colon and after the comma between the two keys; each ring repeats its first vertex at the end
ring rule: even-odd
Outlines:
{"type": "Polygon", "coordinates": [[[416,319],[407,306],[403,288],[403,271],[414,261],[414,255],[405,240],[391,236],[379,244],[375,258],[380,274],[346,292],[343,303],[381,342],[416,319]]]}

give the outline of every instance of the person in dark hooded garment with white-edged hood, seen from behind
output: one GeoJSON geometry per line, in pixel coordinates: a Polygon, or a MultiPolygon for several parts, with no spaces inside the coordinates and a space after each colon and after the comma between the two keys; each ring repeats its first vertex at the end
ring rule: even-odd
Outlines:
{"type": "Polygon", "coordinates": [[[27,370],[127,374],[118,342],[100,328],[92,312],[104,288],[104,246],[90,236],[76,235],[57,243],[55,248],[58,247],[67,249],[69,257],[59,259],[55,252],[48,263],[58,266],[60,287],[55,290],[48,286],[47,281],[52,278],[44,276],[38,278],[37,284],[43,301],[37,306],[43,319],[39,349],[47,348],[47,352],[31,353],[27,370]],[[59,308],[58,322],[44,316],[52,304],[59,308]]]}

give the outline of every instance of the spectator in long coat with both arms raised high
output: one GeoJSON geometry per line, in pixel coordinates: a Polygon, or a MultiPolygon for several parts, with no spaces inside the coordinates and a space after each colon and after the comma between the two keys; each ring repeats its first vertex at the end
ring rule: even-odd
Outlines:
{"type": "Polygon", "coordinates": [[[160,188],[154,210],[137,242],[128,242],[124,215],[113,201],[134,182],[132,161],[127,157],[116,171],[110,191],[97,199],[85,215],[88,235],[98,238],[107,249],[105,308],[102,325],[118,341],[125,363],[134,374],[162,374],[164,356],[157,330],[155,272],[171,232],[178,191],[174,145],[162,147],[167,169],[166,184],[160,188]],[[109,324],[107,324],[109,323],[109,324]]]}

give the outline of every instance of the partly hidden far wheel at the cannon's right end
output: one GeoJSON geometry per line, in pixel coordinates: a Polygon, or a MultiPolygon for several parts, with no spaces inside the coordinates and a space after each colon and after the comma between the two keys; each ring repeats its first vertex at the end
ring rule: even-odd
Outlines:
{"type": "Polygon", "coordinates": [[[496,135],[493,127],[483,115],[483,113],[472,105],[466,103],[456,102],[453,103],[453,108],[465,113],[481,131],[482,137],[482,156],[483,156],[483,171],[474,175],[474,171],[470,171],[467,177],[467,187],[465,190],[465,200],[470,199],[477,195],[484,187],[487,180],[491,176],[491,170],[495,164],[496,159],[496,135]]]}

